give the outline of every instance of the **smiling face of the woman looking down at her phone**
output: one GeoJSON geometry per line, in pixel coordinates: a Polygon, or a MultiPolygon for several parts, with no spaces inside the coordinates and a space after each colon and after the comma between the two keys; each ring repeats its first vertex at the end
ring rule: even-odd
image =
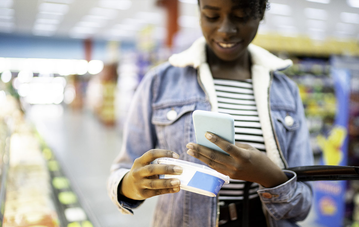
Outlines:
{"type": "Polygon", "coordinates": [[[263,15],[254,18],[243,3],[247,0],[200,0],[202,33],[210,55],[222,61],[246,57],[263,15]],[[211,53],[212,52],[212,53],[211,53]]]}

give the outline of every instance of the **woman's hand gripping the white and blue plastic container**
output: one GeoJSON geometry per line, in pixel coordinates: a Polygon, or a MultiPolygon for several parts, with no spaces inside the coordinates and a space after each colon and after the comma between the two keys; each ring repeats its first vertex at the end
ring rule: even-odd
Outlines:
{"type": "Polygon", "coordinates": [[[167,164],[151,164],[160,157],[178,159],[177,153],[169,150],[152,149],[135,159],[131,170],[123,177],[120,194],[135,200],[144,200],[155,195],[180,191],[180,180],[159,179],[160,174],[180,175],[182,167],[167,164]]]}

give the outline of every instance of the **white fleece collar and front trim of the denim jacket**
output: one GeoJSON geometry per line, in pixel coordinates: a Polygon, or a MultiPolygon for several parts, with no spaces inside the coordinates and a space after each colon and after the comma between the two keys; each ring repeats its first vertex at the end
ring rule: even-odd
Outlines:
{"type": "MultiPolygon", "coordinates": [[[[205,38],[197,39],[187,50],[174,54],[169,58],[169,63],[176,67],[192,66],[197,68],[200,81],[211,103],[211,110],[218,112],[217,96],[214,88],[210,67],[206,62],[205,38]]],[[[285,160],[281,159],[280,152],[273,134],[273,128],[269,114],[269,86],[270,71],[283,70],[292,65],[291,60],[282,60],[267,50],[250,44],[248,50],[252,60],[252,83],[256,100],[258,115],[262,127],[267,156],[282,169],[288,167],[285,160]]]]}

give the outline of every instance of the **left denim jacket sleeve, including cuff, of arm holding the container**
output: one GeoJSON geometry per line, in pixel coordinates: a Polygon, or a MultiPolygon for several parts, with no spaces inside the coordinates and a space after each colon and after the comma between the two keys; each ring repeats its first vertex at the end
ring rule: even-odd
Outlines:
{"type": "Polygon", "coordinates": [[[143,200],[132,200],[119,195],[118,186],[134,160],[153,149],[157,141],[151,124],[154,78],[155,70],[151,70],[135,91],[123,128],[121,151],[111,165],[107,179],[109,197],[124,214],[133,214],[132,209],[141,205],[143,200]]]}

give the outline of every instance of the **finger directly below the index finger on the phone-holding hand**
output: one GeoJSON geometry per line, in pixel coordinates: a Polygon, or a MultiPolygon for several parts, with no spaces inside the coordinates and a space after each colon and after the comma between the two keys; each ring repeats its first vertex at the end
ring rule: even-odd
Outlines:
{"type": "MultiPolygon", "coordinates": [[[[196,143],[187,143],[186,147],[189,148],[187,153],[191,156],[197,157],[198,154],[200,154],[214,162],[219,162],[220,164],[224,164],[224,165],[228,164],[229,156],[222,152],[215,151],[211,148],[208,148],[208,147],[196,144],[196,143]]],[[[231,157],[231,159],[232,159],[232,157],[231,157]]],[[[207,163],[207,164],[209,164],[209,163],[207,163]]],[[[214,165],[214,164],[211,164],[211,165],[214,165]]]]}

